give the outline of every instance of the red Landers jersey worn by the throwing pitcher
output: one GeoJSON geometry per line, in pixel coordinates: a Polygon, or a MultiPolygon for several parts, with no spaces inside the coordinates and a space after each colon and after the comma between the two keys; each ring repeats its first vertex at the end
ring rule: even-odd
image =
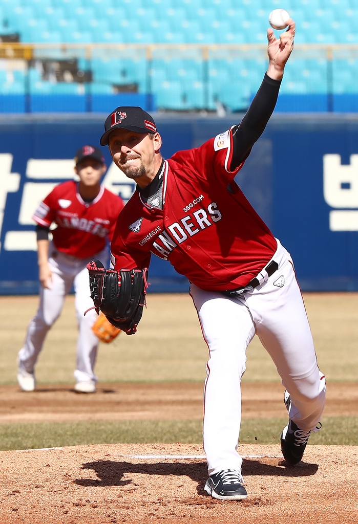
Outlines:
{"type": "Polygon", "coordinates": [[[273,257],[277,242],[230,170],[232,128],[166,160],[163,209],[135,192],[111,244],[115,269],[148,267],[151,253],[204,290],[245,286],[273,257]]]}

